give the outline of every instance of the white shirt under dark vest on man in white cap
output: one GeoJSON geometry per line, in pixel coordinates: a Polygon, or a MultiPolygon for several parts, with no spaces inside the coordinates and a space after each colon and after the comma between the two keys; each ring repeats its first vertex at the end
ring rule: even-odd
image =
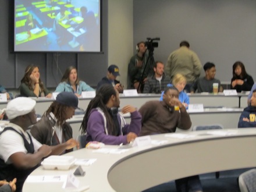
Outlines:
{"type": "MultiPolygon", "coordinates": [[[[25,132],[22,129],[22,127],[17,126],[13,123],[9,123],[8,126],[6,127],[12,127],[19,133],[22,133],[26,137],[27,141],[30,143],[29,133],[27,133],[27,131],[25,132]]],[[[38,149],[42,146],[42,144],[39,143],[37,140],[35,140],[35,138],[31,136],[31,134],[30,134],[30,137],[34,145],[34,150],[35,152],[37,152],[38,149]]],[[[7,130],[1,134],[0,146],[1,146],[0,158],[3,159],[3,161],[5,161],[6,164],[12,163],[10,162],[9,157],[10,155],[15,154],[16,152],[24,152],[24,154],[27,154],[27,150],[25,148],[24,140],[22,136],[20,136],[18,133],[16,133],[13,130],[7,130]]]]}

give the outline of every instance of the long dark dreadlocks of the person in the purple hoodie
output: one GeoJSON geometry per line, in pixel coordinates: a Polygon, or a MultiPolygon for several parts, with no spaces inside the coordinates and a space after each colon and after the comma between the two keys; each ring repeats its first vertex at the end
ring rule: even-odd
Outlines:
{"type": "Polygon", "coordinates": [[[86,133],[88,119],[90,118],[91,109],[100,108],[105,116],[106,116],[106,125],[109,133],[112,133],[114,123],[111,115],[108,112],[108,108],[106,107],[107,102],[111,98],[112,95],[116,96],[116,90],[111,84],[102,85],[96,92],[96,95],[93,99],[91,99],[90,103],[87,106],[86,114],[84,115],[83,122],[81,123],[81,133],[86,133]]]}

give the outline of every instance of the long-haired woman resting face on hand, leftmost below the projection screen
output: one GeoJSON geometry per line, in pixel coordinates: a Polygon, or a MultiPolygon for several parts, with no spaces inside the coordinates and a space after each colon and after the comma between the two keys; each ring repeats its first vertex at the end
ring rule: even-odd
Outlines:
{"type": "Polygon", "coordinates": [[[20,95],[23,97],[52,97],[52,94],[40,79],[38,66],[27,66],[24,77],[20,82],[22,83],[20,84],[20,95]]]}

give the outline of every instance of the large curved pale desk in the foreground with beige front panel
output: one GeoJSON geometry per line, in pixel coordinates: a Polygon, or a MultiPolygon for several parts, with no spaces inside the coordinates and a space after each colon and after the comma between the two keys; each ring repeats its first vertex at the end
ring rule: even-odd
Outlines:
{"type": "MultiPolygon", "coordinates": [[[[177,136],[177,133],[168,135],[177,136]]],[[[93,165],[82,166],[86,171],[84,177],[77,177],[80,187],[90,186],[87,191],[142,191],[186,176],[256,166],[256,129],[194,131],[186,135],[195,136],[172,138],[159,134],[151,136],[151,140],[165,140],[165,144],[132,147],[123,154],[81,149],[66,155],[97,158],[93,165]]],[[[71,172],[76,168],[72,167],[71,172]]],[[[57,176],[69,172],[44,170],[40,166],[31,175],[57,176]]],[[[26,181],[23,191],[65,191],[62,184],[26,181]]]]}

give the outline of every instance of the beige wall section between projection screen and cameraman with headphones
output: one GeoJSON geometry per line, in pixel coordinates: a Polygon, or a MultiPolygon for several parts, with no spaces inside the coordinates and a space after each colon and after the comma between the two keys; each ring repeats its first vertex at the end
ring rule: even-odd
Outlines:
{"type": "Polygon", "coordinates": [[[119,66],[118,79],[127,87],[127,67],[133,53],[133,0],[108,1],[108,65],[119,66]]]}

